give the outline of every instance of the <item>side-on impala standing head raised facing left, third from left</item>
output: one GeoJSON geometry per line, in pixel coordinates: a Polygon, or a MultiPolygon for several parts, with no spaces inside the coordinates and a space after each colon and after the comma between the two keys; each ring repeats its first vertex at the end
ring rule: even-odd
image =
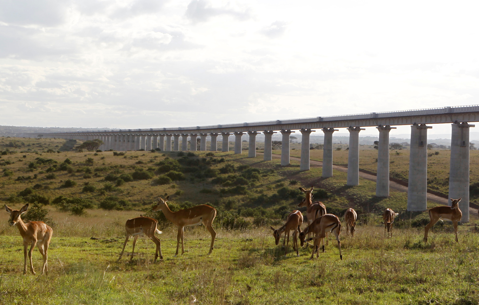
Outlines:
{"type": "Polygon", "coordinates": [[[200,205],[196,207],[185,208],[177,212],[171,212],[170,208],[166,204],[170,199],[170,196],[166,197],[163,200],[161,197],[158,197],[158,204],[156,207],[153,207],[153,211],[163,211],[166,219],[170,220],[178,228],[178,236],[176,238],[176,254],[178,255],[178,248],[180,247],[181,239],[181,254],[184,253],[183,246],[183,237],[184,237],[184,227],[193,227],[197,225],[203,225],[211,233],[211,246],[208,254],[211,254],[213,251],[213,244],[215,243],[216,232],[213,229],[213,220],[216,217],[216,209],[208,205],[200,205]]]}

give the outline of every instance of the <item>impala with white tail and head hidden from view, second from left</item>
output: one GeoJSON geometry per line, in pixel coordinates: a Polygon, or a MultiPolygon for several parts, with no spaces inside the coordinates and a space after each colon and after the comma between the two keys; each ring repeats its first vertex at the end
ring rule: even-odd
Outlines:
{"type": "Polygon", "coordinates": [[[120,257],[118,261],[121,260],[123,256],[123,252],[125,251],[126,243],[130,236],[134,236],[133,239],[133,249],[131,250],[131,257],[130,261],[133,260],[133,253],[135,253],[135,244],[137,243],[138,235],[145,234],[148,236],[150,240],[156,244],[156,252],[155,252],[155,261],[158,259],[158,254],[160,253],[160,260],[163,260],[163,256],[161,255],[161,243],[160,240],[155,236],[155,233],[161,234],[162,232],[157,229],[158,221],[153,218],[140,217],[131,218],[126,220],[125,229],[126,229],[126,238],[125,243],[123,244],[123,250],[121,251],[120,257]]]}

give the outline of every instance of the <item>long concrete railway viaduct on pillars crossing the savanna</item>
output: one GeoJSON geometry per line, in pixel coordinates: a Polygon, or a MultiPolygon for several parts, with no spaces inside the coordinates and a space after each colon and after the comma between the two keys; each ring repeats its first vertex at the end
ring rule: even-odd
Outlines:
{"type": "MultiPolygon", "coordinates": [[[[256,157],[256,135],[265,136],[264,160],[272,159],[271,138],[276,131],[283,136],[281,165],[289,164],[289,136],[301,132],[300,170],[309,170],[309,134],[314,129],[324,132],[323,177],[332,176],[332,134],[335,128],[347,128],[349,136],[347,185],[359,184],[359,132],[361,127],[376,126],[379,132],[377,156],[376,196],[389,196],[389,131],[397,125],[411,125],[411,152],[409,163],[408,211],[427,209],[427,131],[432,124],[451,123],[451,159],[449,173],[449,197],[462,197],[459,203],[463,212],[462,222],[469,221],[469,128],[468,122],[479,121],[479,105],[430,109],[415,109],[392,112],[371,112],[353,115],[313,117],[304,119],[273,120],[192,126],[175,128],[128,129],[120,131],[57,132],[43,133],[43,137],[64,139],[100,139],[102,150],[129,151],[151,150],[196,151],[196,139],[200,137],[200,151],[206,151],[206,137],[211,136],[210,151],[217,151],[217,137],[222,136],[223,152],[228,151],[228,137],[235,136],[235,153],[241,153],[242,136],[249,135],[249,157],[256,157]],[[182,144],[180,147],[180,137],[182,144]],[[173,141],[171,141],[173,138],[173,141]],[[166,140],[166,141],[165,141],[166,140]],[[172,146],[172,147],[171,147],[172,146]]],[[[37,133],[24,133],[26,137],[37,137],[37,133]]],[[[451,201],[449,199],[449,205],[451,201]]]]}

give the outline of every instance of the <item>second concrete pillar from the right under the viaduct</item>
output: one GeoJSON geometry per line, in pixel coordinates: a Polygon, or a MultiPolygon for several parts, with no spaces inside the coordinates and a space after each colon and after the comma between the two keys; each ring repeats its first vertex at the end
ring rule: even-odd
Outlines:
{"type": "Polygon", "coordinates": [[[409,153],[408,211],[427,209],[427,130],[425,124],[411,126],[409,153]]]}

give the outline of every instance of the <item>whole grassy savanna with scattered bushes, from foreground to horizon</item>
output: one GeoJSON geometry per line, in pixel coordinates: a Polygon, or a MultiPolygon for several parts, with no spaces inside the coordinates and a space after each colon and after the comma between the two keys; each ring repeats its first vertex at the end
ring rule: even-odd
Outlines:
{"type": "MultiPolygon", "coordinates": [[[[196,304],[208,305],[479,302],[476,216],[459,226],[459,243],[454,242],[451,225],[438,223],[424,244],[419,220],[427,216],[405,212],[406,193],[392,190],[390,197],[376,198],[374,182],[360,179],[360,185],[348,187],[342,172],[334,171],[333,177],[322,179],[320,167],[300,172],[297,161],[282,167],[279,159],[263,162],[262,155],[247,158],[246,153],[232,152],[195,152],[190,157],[178,156],[177,152],[126,152],[124,156],[114,156],[113,152],[46,153],[65,144],[59,139],[0,138],[0,151],[5,149],[1,145],[11,140],[23,142],[23,146],[18,153],[1,155],[0,203],[20,208],[35,198],[47,198],[49,204],[43,208],[55,226],[49,273],[38,272],[41,255],[35,250],[37,276],[23,275],[20,234],[7,224],[9,214],[0,213],[0,304],[188,304],[192,294],[198,300],[196,304]],[[37,158],[55,162],[39,163],[37,158]],[[71,163],[65,165],[67,158],[71,163]],[[164,170],[165,164],[174,167],[178,163],[184,177],[159,184],[159,177],[171,174],[164,170]],[[150,175],[120,185],[108,180],[136,172],[150,175]],[[248,178],[246,183],[244,177],[248,178]],[[67,180],[76,185],[65,186],[67,180]],[[94,186],[94,191],[84,191],[87,185],[94,186]],[[354,238],[346,238],[342,230],[342,261],[332,238],[326,252],[320,252],[319,259],[314,260],[309,260],[310,248],[300,249],[296,257],[290,242],[284,257],[284,249],[274,245],[269,225],[279,227],[285,213],[299,203],[302,195],[297,187],[310,185],[315,185],[318,196],[320,189],[327,192],[321,201],[328,211],[341,216],[342,210],[354,207],[362,212],[354,238]],[[32,193],[25,195],[27,188],[32,193]],[[125,238],[125,220],[148,213],[155,197],[165,194],[171,195],[172,206],[208,203],[218,209],[212,255],[207,255],[209,233],[201,226],[185,230],[185,254],[174,258],[175,229],[161,222],[163,261],[152,262],[154,244],[141,238],[133,261],[128,261],[130,239],[122,261],[116,262],[125,238]],[[92,206],[74,215],[65,209],[68,206],[53,203],[58,196],[80,198],[92,206]],[[125,205],[99,208],[105,201],[125,205]],[[400,213],[390,239],[384,237],[380,218],[386,207],[400,213]],[[223,222],[227,214],[245,219],[248,226],[229,228],[223,222]],[[415,221],[420,225],[414,225],[415,221]]],[[[292,148],[292,155],[300,153],[292,148]]],[[[404,167],[408,151],[399,152],[402,154],[391,152],[391,161],[402,162],[404,167]]],[[[374,158],[375,153],[369,147],[362,150],[360,166],[365,168],[365,160],[374,158]]],[[[441,150],[429,161],[437,162],[437,168],[448,167],[447,153],[441,150]]],[[[474,153],[471,169],[475,166],[474,153]]],[[[335,151],[334,162],[344,162],[345,156],[347,152],[335,151]]],[[[312,159],[320,161],[319,157],[322,151],[311,151],[312,159]]],[[[373,171],[375,165],[371,164],[373,171]]],[[[471,174],[471,183],[473,177],[471,174]]],[[[433,206],[428,203],[428,207],[433,206]]]]}

